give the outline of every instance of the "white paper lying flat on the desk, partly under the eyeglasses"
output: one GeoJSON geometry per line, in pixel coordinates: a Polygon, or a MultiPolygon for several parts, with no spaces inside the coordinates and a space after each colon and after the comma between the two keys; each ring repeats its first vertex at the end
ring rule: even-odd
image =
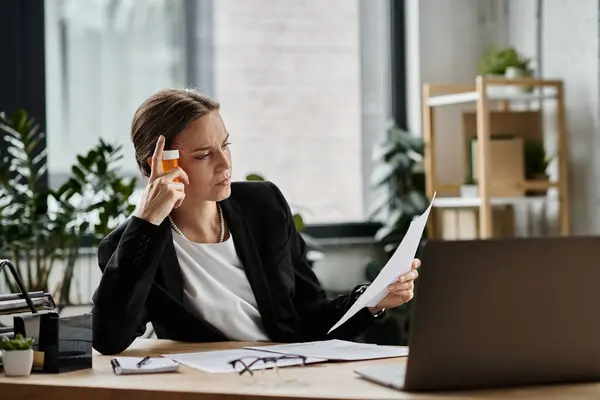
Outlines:
{"type": "MultiPolygon", "coordinates": [[[[260,347],[257,347],[260,349],[260,347]]],[[[235,369],[229,364],[229,361],[236,360],[239,358],[256,358],[256,357],[273,357],[272,352],[250,350],[250,349],[234,349],[234,350],[215,350],[215,351],[204,351],[198,353],[180,353],[180,354],[164,354],[163,357],[170,358],[171,360],[177,361],[180,364],[187,365],[188,367],[199,369],[204,372],[210,372],[214,374],[222,374],[229,372],[240,371],[243,367],[240,365],[235,369]]],[[[310,358],[307,359],[307,363],[317,363],[326,360],[310,358]]],[[[294,366],[300,365],[301,360],[280,360],[278,366],[294,366]]],[[[249,363],[248,363],[249,364],[249,363]]],[[[272,365],[272,364],[271,364],[272,365]]],[[[265,363],[257,363],[251,369],[264,369],[268,368],[265,363]]]]}

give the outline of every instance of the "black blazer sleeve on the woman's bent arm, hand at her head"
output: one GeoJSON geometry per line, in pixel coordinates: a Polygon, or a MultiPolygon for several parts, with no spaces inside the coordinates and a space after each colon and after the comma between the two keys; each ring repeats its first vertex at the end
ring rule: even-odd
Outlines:
{"type": "Polygon", "coordinates": [[[141,336],[148,322],[146,299],[167,241],[159,226],[131,217],[120,237],[98,247],[102,278],[92,301],[93,347],[118,354],[141,336]]]}

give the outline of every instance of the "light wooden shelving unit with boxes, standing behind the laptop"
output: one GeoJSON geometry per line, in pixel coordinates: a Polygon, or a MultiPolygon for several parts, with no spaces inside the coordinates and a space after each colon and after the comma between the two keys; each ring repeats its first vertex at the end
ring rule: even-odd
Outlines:
{"type": "MultiPolygon", "coordinates": [[[[478,193],[472,197],[460,196],[458,193],[465,195],[466,192],[460,190],[461,186],[458,186],[458,191],[445,191],[448,197],[436,198],[433,207],[442,210],[458,209],[458,211],[460,209],[477,209],[478,237],[487,239],[493,237],[496,232],[494,230],[494,213],[499,210],[493,210],[493,207],[545,206],[546,202],[557,200],[560,232],[564,235],[570,233],[568,164],[565,158],[567,133],[562,80],[477,76],[474,84],[425,83],[422,89],[422,128],[426,144],[424,152],[425,185],[428,197],[433,196],[436,189],[440,189],[437,185],[438,168],[435,162],[436,152],[440,150],[436,145],[436,136],[439,135],[436,133],[436,107],[469,104],[469,108],[475,109],[474,112],[472,110],[463,110],[462,112],[463,140],[461,143],[464,145],[465,155],[476,154],[478,162],[486,164],[491,162],[489,159],[493,154],[497,154],[497,152],[492,153],[492,140],[490,139],[492,136],[512,133],[515,137],[521,137],[523,140],[543,140],[541,116],[545,111],[542,107],[543,101],[553,100],[557,130],[556,146],[554,147],[560,155],[557,171],[559,178],[555,182],[533,180],[525,181],[521,185],[515,182],[519,180],[518,171],[516,175],[507,174],[509,178],[505,179],[502,174],[495,174],[492,168],[477,169],[473,172],[478,172],[476,175],[481,176],[474,176],[474,178],[488,188],[484,194],[476,191],[478,193]],[[483,145],[476,147],[476,153],[473,152],[472,147],[469,147],[469,140],[473,138],[487,139],[483,145]],[[497,179],[492,179],[492,175],[497,179]],[[511,178],[513,175],[514,179],[511,178]],[[499,183],[503,184],[507,190],[504,192],[497,190],[499,183]],[[523,196],[525,193],[533,195],[523,196]],[[503,194],[505,196],[502,196],[503,194]]],[[[448,128],[446,127],[446,129],[448,128]]],[[[466,160],[467,157],[464,158],[463,167],[466,172],[469,161],[466,160]]],[[[428,224],[427,229],[431,237],[435,236],[435,225],[435,219],[428,224]]]]}

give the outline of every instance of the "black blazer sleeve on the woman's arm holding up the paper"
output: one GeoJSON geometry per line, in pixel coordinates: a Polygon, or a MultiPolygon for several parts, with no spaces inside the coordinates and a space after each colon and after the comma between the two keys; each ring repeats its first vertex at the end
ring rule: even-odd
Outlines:
{"type": "Polygon", "coordinates": [[[294,306],[305,329],[307,340],[345,339],[351,340],[363,333],[375,319],[367,308],[357,312],[342,326],[327,335],[331,327],[348,311],[358,296],[356,289],[347,295],[328,298],[317,276],[306,258],[307,247],[304,239],[296,230],[292,212],[285,197],[270,183],[286,214],[290,235],[290,249],[294,265],[295,298],[294,306]]]}

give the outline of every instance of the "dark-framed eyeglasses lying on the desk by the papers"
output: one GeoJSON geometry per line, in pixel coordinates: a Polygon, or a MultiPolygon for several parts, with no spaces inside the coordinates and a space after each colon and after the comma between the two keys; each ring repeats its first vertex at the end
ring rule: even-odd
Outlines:
{"type": "Polygon", "coordinates": [[[244,357],[232,360],[229,364],[251,383],[265,380],[294,382],[298,379],[300,368],[306,365],[306,357],[287,354],[244,357]]]}

